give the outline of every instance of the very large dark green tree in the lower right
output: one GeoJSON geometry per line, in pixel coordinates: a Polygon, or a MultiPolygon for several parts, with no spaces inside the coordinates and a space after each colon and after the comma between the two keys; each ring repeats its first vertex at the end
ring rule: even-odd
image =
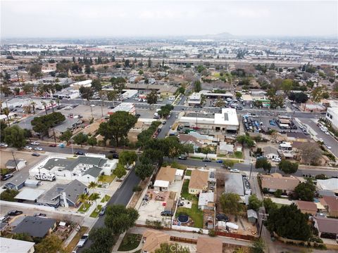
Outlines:
{"type": "Polygon", "coordinates": [[[308,215],[302,214],[294,204],[271,209],[266,226],[268,231],[292,240],[307,241],[311,236],[308,215]]]}

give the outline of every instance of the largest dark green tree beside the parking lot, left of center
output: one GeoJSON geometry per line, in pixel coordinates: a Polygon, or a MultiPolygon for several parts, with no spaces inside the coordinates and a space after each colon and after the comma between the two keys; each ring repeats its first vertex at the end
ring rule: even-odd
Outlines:
{"type": "Polygon", "coordinates": [[[137,117],[128,112],[118,111],[109,117],[108,122],[99,125],[98,134],[106,140],[111,140],[116,146],[120,145],[121,138],[127,137],[129,130],[136,124],[137,117]]]}

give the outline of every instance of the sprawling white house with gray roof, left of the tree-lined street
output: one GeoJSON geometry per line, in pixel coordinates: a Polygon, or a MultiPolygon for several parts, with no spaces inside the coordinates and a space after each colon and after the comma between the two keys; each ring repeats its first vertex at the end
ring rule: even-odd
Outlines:
{"type": "Polygon", "coordinates": [[[97,182],[100,175],[111,175],[118,160],[104,157],[79,156],[77,158],[50,157],[30,169],[30,175],[54,174],[56,179],[75,180],[83,183],[97,182]]]}

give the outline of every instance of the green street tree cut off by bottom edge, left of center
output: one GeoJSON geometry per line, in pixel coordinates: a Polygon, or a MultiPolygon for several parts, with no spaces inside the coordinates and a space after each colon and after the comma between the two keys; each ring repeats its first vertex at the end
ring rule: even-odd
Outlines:
{"type": "Polygon", "coordinates": [[[111,253],[117,236],[113,235],[110,228],[92,228],[89,232],[89,240],[93,243],[84,253],[111,253]]]}

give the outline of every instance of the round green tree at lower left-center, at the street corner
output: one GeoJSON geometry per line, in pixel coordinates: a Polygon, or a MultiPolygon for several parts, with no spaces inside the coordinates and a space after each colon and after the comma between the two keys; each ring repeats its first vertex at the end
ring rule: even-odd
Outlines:
{"type": "Polygon", "coordinates": [[[134,226],[139,218],[139,213],[134,208],[126,208],[123,205],[108,206],[104,223],[110,228],[114,235],[120,235],[134,226]]]}

